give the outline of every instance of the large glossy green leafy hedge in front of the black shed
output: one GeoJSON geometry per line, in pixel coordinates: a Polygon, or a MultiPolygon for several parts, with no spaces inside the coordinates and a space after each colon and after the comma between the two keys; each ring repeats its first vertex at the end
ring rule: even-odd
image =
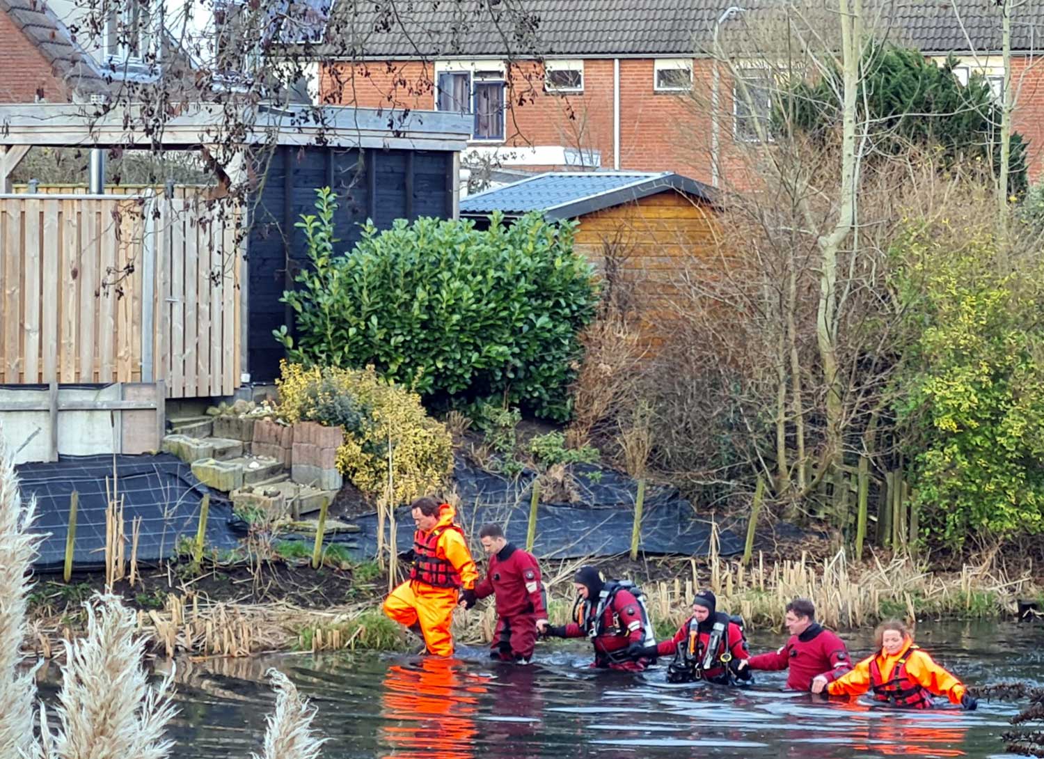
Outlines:
{"type": "Polygon", "coordinates": [[[373,364],[427,398],[496,397],[568,419],[567,387],[594,316],[593,269],[573,252],[574,224],[530,214],[488,231],[471,221],[418,219],[363,229],[355,248],[335,253],[336,198],[317,191],[317,213],[298,227],[312,267],[283,301],[296,340],[276,336],[293,361],[373,364]]]}

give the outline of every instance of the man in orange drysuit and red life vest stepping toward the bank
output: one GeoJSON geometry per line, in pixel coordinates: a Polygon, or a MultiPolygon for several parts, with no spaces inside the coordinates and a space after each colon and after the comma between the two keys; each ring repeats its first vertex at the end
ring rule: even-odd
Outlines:
{"type": "Polygon", "coordinates": [[[450,623],[457,593],[475,587],[478,570],[464,530],[453,523],[453,506],[434,498],[419,498],[413,501],[411,513],[417,531],[412,550],[403,558],[413,566],[409,579],[384,600],[384,613],[423,637],[429,654],[450,657],[453,656],[450,623]]]}

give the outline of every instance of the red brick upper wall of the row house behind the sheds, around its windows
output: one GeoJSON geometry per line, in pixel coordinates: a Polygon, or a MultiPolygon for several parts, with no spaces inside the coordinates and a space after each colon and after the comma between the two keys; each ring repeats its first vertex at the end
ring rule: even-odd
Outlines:
{"type": "MultiPolygon", "coordinates": [[[[1030,141],[1030,179],[1044,172],[1044,57],[1018,58],[1013,80],[1021,79],[1015,128],[1030,141]]],[[[620,61],[620,168],[678,171],[711,181],[710,99],[713,65],[697,60],[692,93],[658,93],[652,87],[652,58],[620,61]]],[[[434,108],[433,66],[420,62],[341,65],[322,73],[322,92],[330,102],[365,108],[434,108]]],[[[543,91],[537,64],[518,64],[508,77],[506,145],[561,145],[594,148],[601,168],[613,167],[613,62],[584,63],[584,92],[543,91]]],[[[733,140],[732,85],[720,81],[721,186],[744,189],[756,185],[751,145],[733,140]]],[[[533,167],[536,168],[536,167],[533,167]]]]}

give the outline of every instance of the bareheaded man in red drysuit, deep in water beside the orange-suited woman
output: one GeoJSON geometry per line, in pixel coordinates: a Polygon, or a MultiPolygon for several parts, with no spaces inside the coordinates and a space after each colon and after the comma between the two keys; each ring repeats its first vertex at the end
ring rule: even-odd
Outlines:
{"type": "MultiPolygon", "coordinates": [[[[782,648],[759,654],[745,662],[751,669],[789,669],[786,687],[812,689],[812,680],[823,675],[832,683],[852,668],[845,641],[815,621],[815,604],[794,598],[786,604],[786,628],[790,640],[782,648]]],[[[742,666],[742,665],[741,665],[742,666]]]]}

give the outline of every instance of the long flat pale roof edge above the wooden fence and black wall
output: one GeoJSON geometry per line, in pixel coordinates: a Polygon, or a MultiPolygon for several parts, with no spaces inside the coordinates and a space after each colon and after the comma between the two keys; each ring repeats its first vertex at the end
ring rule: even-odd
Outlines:
{"type": "MultiPolygon", "coordinates": [[[[51,145],[65,147],[146,147],[153,143],[169,148],[192,148],[219,141],[229,117],[221,105],[201,103],[175,116],[151,134],[143,121],[127,110],[108,113],[95,105],[68,103],[20,103],[0,105],[0,145],[51,145]],[[130,126],[127,126],[127,124],[130,126]]],[[[426,150],[464,150],[471,136],[471,117],[455,113],[411,111],[390,114],[379,109],[347,105],[244,109],[246,125],[237,142],[267,143],[275,135],[280,145],[369,147],[426,150]]]]}

